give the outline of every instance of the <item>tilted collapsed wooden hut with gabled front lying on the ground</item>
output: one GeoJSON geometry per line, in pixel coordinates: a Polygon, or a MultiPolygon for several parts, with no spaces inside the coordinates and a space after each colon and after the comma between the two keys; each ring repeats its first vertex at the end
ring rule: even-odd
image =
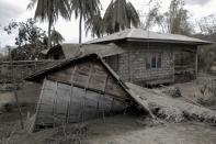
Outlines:
{"type": "Polygon", "coordinates": [[[96,54],[68,59],[25,80],[43,84],[35,130],[103,118],[132,104],[128,88],[96,54]]]}

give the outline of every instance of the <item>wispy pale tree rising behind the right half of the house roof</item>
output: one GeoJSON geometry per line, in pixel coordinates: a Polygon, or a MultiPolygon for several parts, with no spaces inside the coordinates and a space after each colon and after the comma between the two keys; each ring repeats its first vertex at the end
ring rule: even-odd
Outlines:
{"type": "Polygon", "coordinates": [[[169,11],[162,14],[159,13],[159,7],[152,9],[148,21],[152,22],[152,20],[163,33],[184,35],[193,33],[193,26],[189,22],[189,11],[184,9],[182,0],[172,0],[169,11]]]}

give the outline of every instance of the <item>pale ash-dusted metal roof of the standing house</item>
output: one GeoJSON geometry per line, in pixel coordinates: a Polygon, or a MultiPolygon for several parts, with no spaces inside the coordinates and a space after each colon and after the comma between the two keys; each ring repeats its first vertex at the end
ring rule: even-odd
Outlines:
{"type": "Polygon", "coordinates": [[[103,42],[113,42],[116,40],[127,40],[127,41],[150,41],[150,42],[166,42],[166,43],[187,43],[187,44],[211,44],[211,42],[185,36],[179,34],[164,34],[157,32],[148,32],[143,29],[127,29],[125,31],[114,33],[101,38],[92,40],[87,42],[87,44],[95,44],[103,42]]]}

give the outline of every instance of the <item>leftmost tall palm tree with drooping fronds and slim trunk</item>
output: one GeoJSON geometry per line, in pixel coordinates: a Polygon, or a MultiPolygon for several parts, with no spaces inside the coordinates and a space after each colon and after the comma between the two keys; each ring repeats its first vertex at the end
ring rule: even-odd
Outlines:
{"type": "Polygon", "coordinates": [[[54,22],[58,20],[58,16],[61,15],[64,19],[70,19],[70,4],[68,0],[31,0],[27,5],[27,9],[34,8],[35,19],[39,19],[42,22],[48,21],[48,48],[52,47],[50,32],[54,22]]]}

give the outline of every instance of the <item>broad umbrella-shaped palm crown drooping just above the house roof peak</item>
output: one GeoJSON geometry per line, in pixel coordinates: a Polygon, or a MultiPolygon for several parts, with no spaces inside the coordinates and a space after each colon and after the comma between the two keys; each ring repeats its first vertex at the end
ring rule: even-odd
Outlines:
{"type": "Polygon", "coordinates": [[[137,27],[140,24],[138,12],[126,0],[112,0],[103,20],[107,34],[129,29],[132,25],[137,27]]]}

